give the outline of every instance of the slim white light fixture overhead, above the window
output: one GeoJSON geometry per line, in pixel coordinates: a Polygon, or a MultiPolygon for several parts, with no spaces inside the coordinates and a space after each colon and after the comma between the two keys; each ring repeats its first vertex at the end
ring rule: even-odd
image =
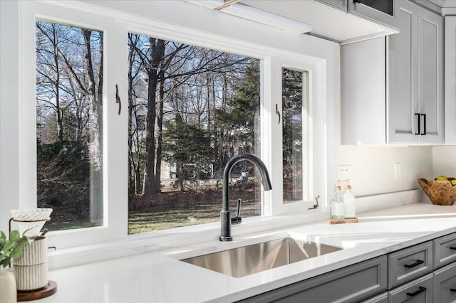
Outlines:
{"type": "Polygon", "coordinates": [[[223,0],[186,0],[188,3],[203,6],[206,9],[217,9],[222,13],[265,24],[267,26],[273,26],[275,28],[294,31],[296,33],[309,33],[309,31],[312,30],[312,26],[309,24],[271,14],[267,11],[262,11],[261,9],[255,9],[252,6],[237,3],[238,1],[234,0],[231,1],[231,4],[225,5],[223,0]]]}

